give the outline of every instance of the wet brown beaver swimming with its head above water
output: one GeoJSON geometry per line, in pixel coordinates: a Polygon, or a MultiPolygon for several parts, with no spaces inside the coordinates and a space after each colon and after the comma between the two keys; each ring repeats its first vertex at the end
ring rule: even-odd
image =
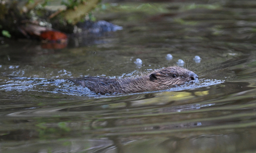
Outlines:
{"type": "Polygon", "coordinates": [[[163,90],[174,85],[195,82],[197,79],[198,76],[193,71],[181,67],[167,67],[138,78],[83,77],[71,81],[97,94],[113,94],[163,90]]]}

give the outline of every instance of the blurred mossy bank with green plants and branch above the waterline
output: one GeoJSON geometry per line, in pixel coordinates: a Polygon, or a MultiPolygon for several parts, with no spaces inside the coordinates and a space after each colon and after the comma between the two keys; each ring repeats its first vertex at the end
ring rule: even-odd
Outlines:
{"type": "Polygon", "coordinates": [[[37,35],[42,29],[71,33],[74,25],[83,20],[100,0],[9,1],[0,0],[0,35],[24,37],[37,35]]]}

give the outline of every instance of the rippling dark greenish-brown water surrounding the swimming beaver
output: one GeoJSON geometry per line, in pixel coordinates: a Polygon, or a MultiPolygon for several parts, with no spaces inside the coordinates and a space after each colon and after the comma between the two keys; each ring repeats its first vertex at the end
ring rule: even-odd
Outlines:
{"type": "Polygon", "coordinates": [[[102,5],[97,19],[123,30],[61,50],[4,40],[0,152],[256,152],[256,2],[195,2],[102,5]],[[100,96],[67,80],[179,59],[198,83],[100,96]]]}

